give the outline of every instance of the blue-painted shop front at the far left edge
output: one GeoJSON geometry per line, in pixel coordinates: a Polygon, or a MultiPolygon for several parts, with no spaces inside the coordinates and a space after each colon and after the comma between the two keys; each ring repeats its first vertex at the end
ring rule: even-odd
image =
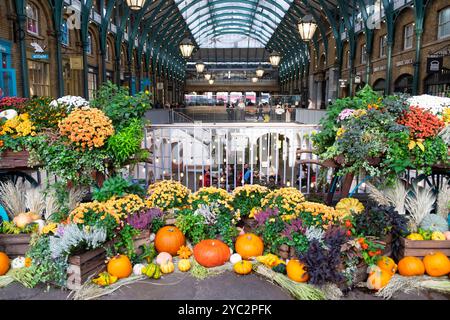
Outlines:
{"type": "Polygon", "coordinates": [[[12,68],[11,42],[0,39],[0,98],[16,95],[16,70],[12,68]]]}

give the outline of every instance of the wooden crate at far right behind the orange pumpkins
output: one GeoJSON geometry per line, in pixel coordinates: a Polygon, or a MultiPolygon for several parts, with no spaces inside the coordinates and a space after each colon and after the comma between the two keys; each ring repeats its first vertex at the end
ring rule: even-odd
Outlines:
{"type": "Polygon", "coordinates": [[[413,256],[423,258],[425,255],[440,251],[450,256],[450,240],[409,240],[401,238],[400,258],[413,256]]]}

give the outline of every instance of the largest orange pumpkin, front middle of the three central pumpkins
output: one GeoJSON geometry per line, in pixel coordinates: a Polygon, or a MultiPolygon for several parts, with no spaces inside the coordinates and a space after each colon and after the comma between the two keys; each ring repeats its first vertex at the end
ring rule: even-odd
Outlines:
{"type": "Polygon", "coordinates": [[[220,240],[202,240],[194,247],[194,257],[204,267],[218,267],[230,259],[230,248],[220,240]]]}

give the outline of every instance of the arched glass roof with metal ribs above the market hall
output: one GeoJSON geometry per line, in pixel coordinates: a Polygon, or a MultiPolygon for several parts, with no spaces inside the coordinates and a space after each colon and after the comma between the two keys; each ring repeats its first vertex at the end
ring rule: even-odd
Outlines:
{"type": "Polygon", "coordinates": [[[200,48],[264,48],[294,0],[176,0],[200,48]]]}

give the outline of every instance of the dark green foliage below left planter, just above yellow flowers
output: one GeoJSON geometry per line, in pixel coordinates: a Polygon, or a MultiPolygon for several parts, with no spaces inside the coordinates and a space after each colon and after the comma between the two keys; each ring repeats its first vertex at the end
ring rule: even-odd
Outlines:
{"type": "Polygon", "coordinates": [[[95,188],[92,199],[107,201],[113,196],[123,197],[127,194],[137,194],[142,197],[145,195],[145,190],[140,185],[133,184],[120,176],[115,176],[105,180],[100,189],[95,188]]]}

